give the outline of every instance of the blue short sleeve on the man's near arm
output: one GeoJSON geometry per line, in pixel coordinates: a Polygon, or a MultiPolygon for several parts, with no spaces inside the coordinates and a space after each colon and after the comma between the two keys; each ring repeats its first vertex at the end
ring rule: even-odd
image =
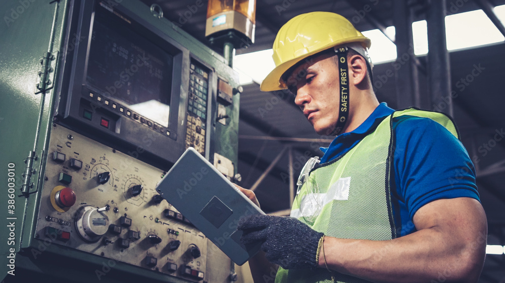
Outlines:
{"type": "Polygon", "coordinates": [[[480,201],[475,168],[463,144],[428,118],[393,119],[396,191],[412,219],[428,202],[471,197],[480,201]]]}

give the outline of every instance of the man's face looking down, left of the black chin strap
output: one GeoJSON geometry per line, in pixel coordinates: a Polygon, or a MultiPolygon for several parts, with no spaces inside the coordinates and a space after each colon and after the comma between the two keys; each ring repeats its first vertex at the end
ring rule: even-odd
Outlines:
{"type": "Polygon", "coordinates": [[[294,103],[320,135],[329,135],[338,121],[338,74],[334,58],[321,55],[297,67],[287,80],[289,90],[296,95],[294,103]]]}

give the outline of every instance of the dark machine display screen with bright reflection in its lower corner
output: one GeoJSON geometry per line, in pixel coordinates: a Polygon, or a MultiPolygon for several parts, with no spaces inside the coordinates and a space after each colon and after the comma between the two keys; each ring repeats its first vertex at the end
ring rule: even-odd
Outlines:
{"type": "Polygon", "coordinates": [[[173,56],[133,31],[128,20],[98,7],[86,83],[138,114],[168,126],[173,56]]]}

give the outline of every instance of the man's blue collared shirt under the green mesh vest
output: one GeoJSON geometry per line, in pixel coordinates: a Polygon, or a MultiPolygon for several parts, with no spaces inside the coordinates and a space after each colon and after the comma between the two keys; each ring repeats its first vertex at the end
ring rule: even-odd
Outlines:
{"type": "MultiPolygon", "coordinates": [[[[347,153],[394,110],[381,103],[354,131],[338,135],[321,148],[321,163],[347,153]]],[[[463,144],[439,123],[414,116],[393,118],[393,172],[391,187],[397,235],[414,232],[413,217],[423,205],[442,198],[479,200],[475,168],[463,144]]],[[[480,200],[479,200],[480,201],[480,200]]]]}

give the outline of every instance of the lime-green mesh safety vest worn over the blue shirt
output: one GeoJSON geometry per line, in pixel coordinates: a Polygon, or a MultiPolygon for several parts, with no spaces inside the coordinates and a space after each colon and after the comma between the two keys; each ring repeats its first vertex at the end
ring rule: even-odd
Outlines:
{"type": "MultiPolygon", "coordinates": [[[[391,240],[397,237],[391,208],[394,149],[392,118],[430,118],[459,138],[456,125],[444,114],[417,110],[395,111],[346,154],[312,170],[296,195],[291,216],[326,236],[343,239],[391,240]]],[[[379,251],[377,256],[382,256],[379,251]]],[[[336,282],[368,282],[335,273],[336,282]]],[[[286,270],[279,267],[275,282],[328,282],[325,268],[286,270]]]]}

